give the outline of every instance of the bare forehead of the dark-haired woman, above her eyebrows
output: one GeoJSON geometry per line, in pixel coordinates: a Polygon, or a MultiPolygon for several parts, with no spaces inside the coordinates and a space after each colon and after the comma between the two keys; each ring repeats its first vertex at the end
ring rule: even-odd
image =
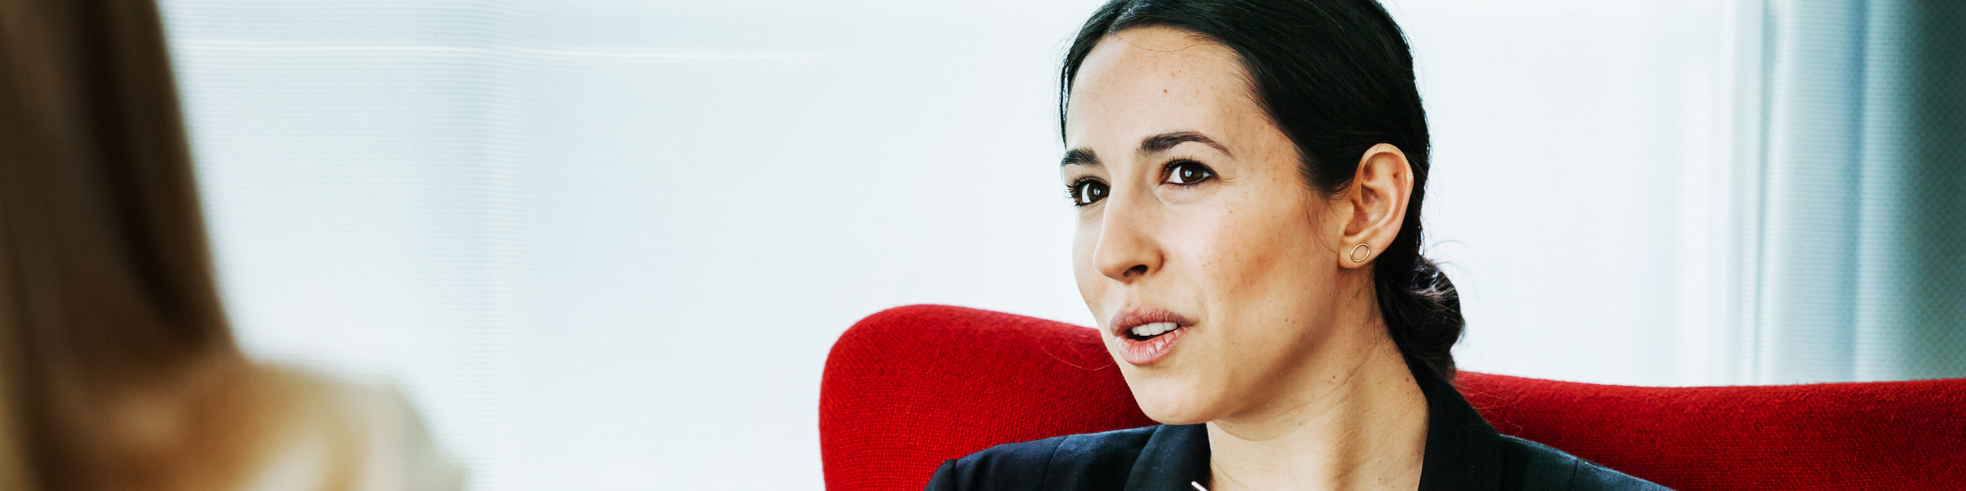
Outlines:
{"type": "Polygon", "coordinates": [[[1233,49],[1182,29],[1136,27],[1107,35],[1079,65],[1066,143],[1128,145],[1172,130],[1229,136],[1266,122],[1233,49]]]}

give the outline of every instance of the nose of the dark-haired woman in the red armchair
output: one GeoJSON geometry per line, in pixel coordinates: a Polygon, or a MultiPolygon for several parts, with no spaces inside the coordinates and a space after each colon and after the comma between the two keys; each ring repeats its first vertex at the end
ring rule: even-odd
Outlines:
{"type": "Polygon", "coordinates": [[[1099,220],[1099,246],[1093,247],[1093,265],[1099,273],[1132,285],[1154,271],[1160,271],[1166,253],[1156,240],[1158,208],[1138,192],[1115,192],[1105,202],[1099,220]],[[1132,196],[1128,196],[1132,194],[1132,196]]]}

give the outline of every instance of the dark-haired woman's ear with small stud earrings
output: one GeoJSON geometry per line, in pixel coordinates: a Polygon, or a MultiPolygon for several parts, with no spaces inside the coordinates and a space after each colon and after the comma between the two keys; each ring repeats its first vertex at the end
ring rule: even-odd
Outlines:
{"type": "Polygon", "coordinates": [[[1378,259],[1378,253],[1400,236],[1412,196],[1414,167],[1406,161],[1406,153],[1390,143],[1366,149],[1364,157],[1359,157],[1359,175],[1353,175],[1351,187],[1335,202],[1345,218],[1345,236],[1337,247],[1339,267],[1364,267],[1378,259]]]}

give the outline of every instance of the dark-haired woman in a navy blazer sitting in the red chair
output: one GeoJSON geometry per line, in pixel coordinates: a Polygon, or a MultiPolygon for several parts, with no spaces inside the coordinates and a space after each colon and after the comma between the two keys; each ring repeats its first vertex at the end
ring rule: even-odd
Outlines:
{"type": "Polygon", "coordinates": [[[1498,434],[1419,257],[1427,128],[1372,0],[1113,0],[1064,65],[1073,271],[1152,428],[928,489],[1661,489],[1498,434]]]}

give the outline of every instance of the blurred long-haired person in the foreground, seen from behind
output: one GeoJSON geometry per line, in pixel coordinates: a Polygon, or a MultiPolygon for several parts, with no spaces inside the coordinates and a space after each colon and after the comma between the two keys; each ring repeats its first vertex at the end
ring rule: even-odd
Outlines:
{"type": "Polygon", "coordinates": [[[460,489],[401,391],[246,359],[157,8],[0,2],[0,491],[460,489]]]}

